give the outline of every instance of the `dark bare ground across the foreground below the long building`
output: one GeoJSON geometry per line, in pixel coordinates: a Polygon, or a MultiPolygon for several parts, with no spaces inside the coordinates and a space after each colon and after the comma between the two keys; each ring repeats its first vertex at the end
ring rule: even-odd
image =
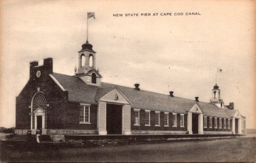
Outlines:
{"type": "Polygon", "coordinates": [[[254,162],[255,137],[107,143],[94,146],[1,144],[1,162],[254,162]]]}

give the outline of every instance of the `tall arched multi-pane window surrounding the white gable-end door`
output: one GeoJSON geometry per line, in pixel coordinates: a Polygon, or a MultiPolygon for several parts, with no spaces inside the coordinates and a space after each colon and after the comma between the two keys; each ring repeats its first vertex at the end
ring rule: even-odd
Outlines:
{"type": "Polygon", "coordinates": [[[47,104],[43,92],[37,92],[32,99],[32,129],[35,129],[35,114],[34,111],[38,108],[44,110],[44,128],[46,129],[47,119],[47,104]]]}

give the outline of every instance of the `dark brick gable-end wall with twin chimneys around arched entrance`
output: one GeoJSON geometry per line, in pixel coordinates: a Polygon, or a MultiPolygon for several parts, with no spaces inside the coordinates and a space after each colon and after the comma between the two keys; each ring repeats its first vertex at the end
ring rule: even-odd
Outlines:
{"type": "Polygon", "coordinates": [[[28,83],[16,97],[16,129],[30,129],[31,127],[31,101],[37,88],[44,93],[47,107],[47,129],[63,129],[66,127],[66,109],[68,104],[68,92],[62,91],[52,80],[52,59],[44,59],[44,65],[38,66],[38,62],[30,63],[30,77],[28,83]],[[41,76],[36,77],[40,70],[41,76]]]}

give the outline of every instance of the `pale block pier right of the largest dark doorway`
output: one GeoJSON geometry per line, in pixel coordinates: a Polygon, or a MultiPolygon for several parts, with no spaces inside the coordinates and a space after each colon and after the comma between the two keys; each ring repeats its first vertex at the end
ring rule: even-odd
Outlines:
{"type": "Polygon", "coordinates": [[[131,135],[131,105],[123,106],[123,129],[124,135],[131,135]]]}

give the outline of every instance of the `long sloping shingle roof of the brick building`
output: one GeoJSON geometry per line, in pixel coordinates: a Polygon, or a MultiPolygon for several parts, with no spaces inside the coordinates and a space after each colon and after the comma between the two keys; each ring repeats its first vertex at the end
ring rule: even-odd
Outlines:
{"type": "MultiPolygon", "coordinates": [[[[101,82],[101,86],[87,85],[80,78],[53,73],[53,76],[68,91],[68,99],[72,101],[97,103],[106,93],[118,87],[122,93],[132,102],[132,108],[151,109],[167,112],[187,113],[196,103],[195,100],[184,99],[180,97],[171,97],[169,95],[154,93],[143,90],[136,90],[120,85],[113,85],[101,82]]],[[[198,102],[203,109],[204,115],[230,118],[233,111],[222,109],[214,104],[198,102]]]]}

